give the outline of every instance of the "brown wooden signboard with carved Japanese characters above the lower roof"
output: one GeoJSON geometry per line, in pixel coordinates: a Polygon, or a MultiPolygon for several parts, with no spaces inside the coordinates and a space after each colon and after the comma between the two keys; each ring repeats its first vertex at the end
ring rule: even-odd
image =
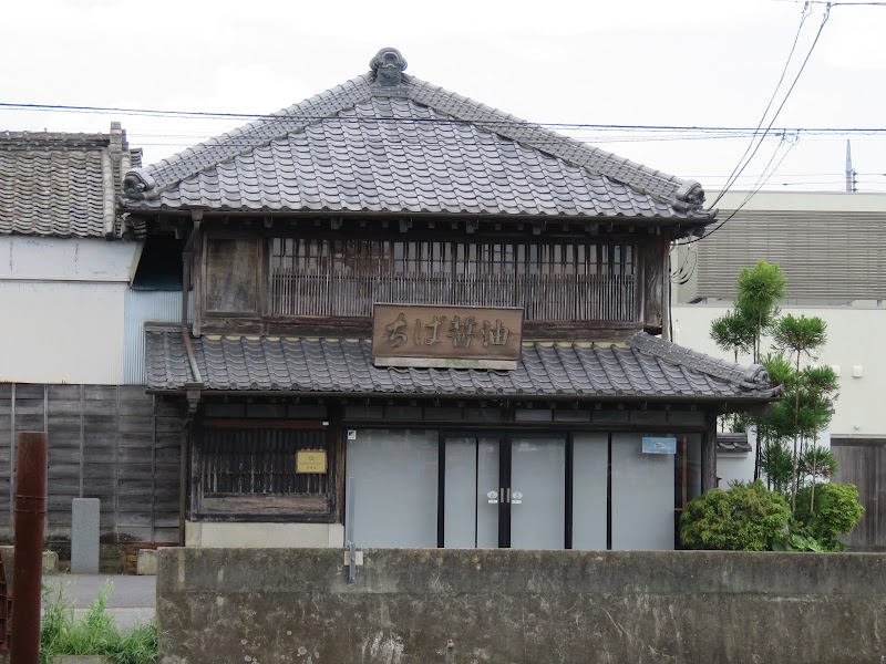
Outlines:
{"type": "Polygon", "coordinates": [[[378,366],[516,369],[523,309],[381,304],[372,310],[378,366]]]}

